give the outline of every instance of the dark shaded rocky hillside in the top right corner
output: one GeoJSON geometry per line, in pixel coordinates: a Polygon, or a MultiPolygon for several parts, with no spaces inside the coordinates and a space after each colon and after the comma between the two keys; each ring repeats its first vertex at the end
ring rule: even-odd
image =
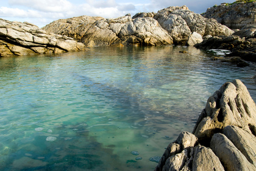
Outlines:
{"type": "Polygon", "coordinates": [[[207,9],[205,18],[214,18],[230,29],[242,29],[256,24],[256,2],[236,2],[221,4],[207,9]]]}

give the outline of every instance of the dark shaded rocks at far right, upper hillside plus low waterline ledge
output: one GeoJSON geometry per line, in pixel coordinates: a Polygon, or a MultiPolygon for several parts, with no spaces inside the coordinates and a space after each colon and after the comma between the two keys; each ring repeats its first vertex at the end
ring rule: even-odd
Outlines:
{"type": "Polygon", "coordinates": [[[219,23],[236,29],[229,36],[204,37],[199,49],[227,49],[230,57],[241,57],[256,62],[256,2],[221,4],[207,9],[205,18],[215,18],[219,23]],[[240,30],[237,30],[240,29],[240,30]]]}

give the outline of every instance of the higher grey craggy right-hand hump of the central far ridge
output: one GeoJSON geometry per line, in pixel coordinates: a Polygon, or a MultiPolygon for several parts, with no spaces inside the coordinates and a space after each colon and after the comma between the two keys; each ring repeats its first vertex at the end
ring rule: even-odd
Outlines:
{"type": "Polygon", "coordinates": [[[185,5],[160,10],[154,18],[178,44],[184,39],[187,40],[193,32],[199,33],[202,37],[205,35],[231,35],[233,33],[233,30],[222,26],[215,19],[207,19],[191,12],[185,5]]]}

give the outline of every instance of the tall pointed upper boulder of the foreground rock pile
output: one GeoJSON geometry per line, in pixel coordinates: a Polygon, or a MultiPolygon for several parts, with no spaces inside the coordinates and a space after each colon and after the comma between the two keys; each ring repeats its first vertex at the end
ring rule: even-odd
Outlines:
{"type": "Polygon", "coordinates": [[[255,102],[240,80],[225,83],[209,97],[193,133],[206,144],[213,134],[229,125],[256,132],[255,102]]]}

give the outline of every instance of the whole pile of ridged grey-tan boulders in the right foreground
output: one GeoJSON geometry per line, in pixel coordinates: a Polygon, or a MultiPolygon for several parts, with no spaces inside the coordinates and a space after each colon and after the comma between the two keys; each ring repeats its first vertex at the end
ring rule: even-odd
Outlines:
{"type": "Polygon", "coordinates": [[[180,133],[155,170],[256,170],[256,105],[240,80],[209,97],[193,134],[180,133]]]}

